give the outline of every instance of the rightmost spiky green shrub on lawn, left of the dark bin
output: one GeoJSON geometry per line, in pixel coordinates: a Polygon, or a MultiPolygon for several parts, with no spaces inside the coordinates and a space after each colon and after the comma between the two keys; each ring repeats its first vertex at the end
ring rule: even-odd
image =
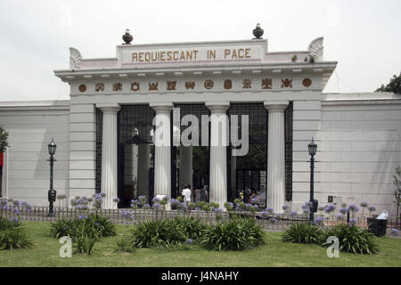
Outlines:
{"type": "MultiPolygon", "coordinates": [[[[379,252],[377,238],[367,229],[356,225],[338,224],[324,233],[324,240],[335,236],[339,239],[340,250],[355,254],[379,252]]],[[[327,246],[327,243],[323,245],[327,246]]]]}

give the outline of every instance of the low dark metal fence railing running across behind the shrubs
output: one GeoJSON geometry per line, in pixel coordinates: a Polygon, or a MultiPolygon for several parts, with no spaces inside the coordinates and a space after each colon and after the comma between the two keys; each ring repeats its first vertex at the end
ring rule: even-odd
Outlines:
{"type": "MultiPolygon", "coordinates": [[[[8,208],[0,208],[0,216],[5,218],[18,217],[20,221],[25,222],[55,222],[61,219],[72,219],[83,215],[82,211],[77,208],[59,208],[55,207],[53,210],[54,216],[48,216],[48,207],[31,207],[28,211],[26,208],[10,206],[8,208]]],[[[307,215],[291,216],[290,214],[280,214],[280,216],[271,214],[265,215],[263,218],[260,216],[261,212],[250,213],[249,211],[233,211],[223,212],[217,214],[215,212],[206,212],[202,210],[156,210],[156,209],[89,209],[86,210],[87,214],[97,213],[98,215],[108,217],[115,224],[136,224],[148,220],[164,220],[168,218],[175,218],[177,216],[195,216],[201,218],[203,221],[211,224],[217,223],[217,220],[226,221],[232,219],[233,216],[241,216],[245,218],[254,218],[267,231],[283,231],[294,223],[306,223],[309,219],[307,215]]],[[[315,217],[322,216],[315,214],[315,217]]],[[[357,216],[355,223],[358,226],[367,227],[367,218],[370,216],[357,216]]],[[[375,217],[375,216],[373,216],[375,217]]],[[[327,227],[336,224],[345,224],[347,219],[332,220],[324,216],[323,225],[327,227]]],[[[396,216],[389,216],[388,228],[400,229],[400,218],[396,216]]]]}

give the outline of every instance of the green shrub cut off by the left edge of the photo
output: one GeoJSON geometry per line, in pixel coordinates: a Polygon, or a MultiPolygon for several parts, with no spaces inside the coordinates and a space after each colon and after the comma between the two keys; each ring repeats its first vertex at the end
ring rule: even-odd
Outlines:
{"type": "Polygon", "coordinates": [[[0,249],[30,248],[33,246],[25,228],[11,227],[0,231],[0,249]]]}

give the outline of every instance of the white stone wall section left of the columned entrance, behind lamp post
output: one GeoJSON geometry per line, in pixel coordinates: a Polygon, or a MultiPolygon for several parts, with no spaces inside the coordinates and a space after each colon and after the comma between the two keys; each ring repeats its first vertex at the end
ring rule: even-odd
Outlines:
{"type": "Polygon", "coordinates": [[[53,187],[57,194],[68,193],[69,125],[69,101],[0,102],[0,126],[10,133],[3,197],[48,206],[50,165],[46,160],[52,138],[57,144],[53,187]]]}

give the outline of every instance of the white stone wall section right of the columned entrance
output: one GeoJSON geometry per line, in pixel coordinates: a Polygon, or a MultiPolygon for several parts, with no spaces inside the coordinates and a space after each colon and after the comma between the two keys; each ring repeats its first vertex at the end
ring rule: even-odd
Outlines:
{"type": "Polygon", "coordinates": [[[401,96],[323,95],[318,148],[321,202],[333,195],[346,204],[368,202],[376,214],[383,209],[395,214],[392,175],[401,165],[401,96]]]}

